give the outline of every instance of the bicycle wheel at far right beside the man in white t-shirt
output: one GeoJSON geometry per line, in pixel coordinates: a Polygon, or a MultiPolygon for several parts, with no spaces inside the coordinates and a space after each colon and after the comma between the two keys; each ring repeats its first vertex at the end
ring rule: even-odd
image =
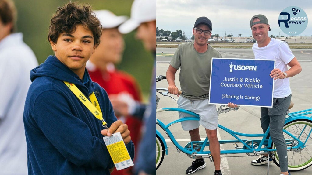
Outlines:
{"type": "MultiPolygon", "coordinates": [[[[287,130],[292,135],[295,135],[297,138],[300,136],[302,142],[306,142],[305,148],[303,149],[293,149],[292,151],[287,151],[288,157],[288,170],[289,171],[300,171],[305,168],[308,168],[312,165],[312,121],[306,119],[298,119],[285,123],[284,130],[287,130]],[[302,132],[303,131],[303,132],[302,132]]],[[[287,147],[290,147],[291,144],[295,144],[296,141],[292,139],[290,135],[283,133],[286,141],[287,147]]],[[[271,148],[275,149],[275,144],[272,143],[271,148]]],[[[274,151],[275,158],[273,159],[274,163],[280,167],[279,156],[277,151],[274,151]]]]}

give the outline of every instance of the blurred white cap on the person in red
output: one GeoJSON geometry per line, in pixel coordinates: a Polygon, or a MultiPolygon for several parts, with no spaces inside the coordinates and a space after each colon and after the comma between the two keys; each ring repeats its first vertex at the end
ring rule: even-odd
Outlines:
{"type": "Polygon", "coordinates": [[[129,19],[127,16],[116,16],[109,10],[95,10],[94,14],[100,20],[103,29],[118,27],[129,19]]]}

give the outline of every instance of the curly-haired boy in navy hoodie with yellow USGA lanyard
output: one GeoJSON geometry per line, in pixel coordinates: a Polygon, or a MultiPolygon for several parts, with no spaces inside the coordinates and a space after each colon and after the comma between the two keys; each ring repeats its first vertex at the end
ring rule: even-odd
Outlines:
{"type": "Polygon", "coordinates": [[[117,121],[107,93],[85,69],[101,29],[88,4],[69,2],[51,18],[48,40],[55,55],[31,71],[24,110],[29,174],[110,174],[114,163],[102,137],[115,132],[133,159],[127,125],[117,121]]]}

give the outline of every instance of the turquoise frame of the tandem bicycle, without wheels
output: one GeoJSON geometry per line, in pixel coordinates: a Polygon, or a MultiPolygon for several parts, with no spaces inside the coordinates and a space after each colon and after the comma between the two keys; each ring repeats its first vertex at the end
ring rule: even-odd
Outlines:
{"type": "MultiPolygon", "coordinates": [[[[162,111],[179,111],[179,112],[184,112],[189,114],[189,117],[185,117],[182,119],[178,119],[175,121],[172,121],[170,123],[168,123],[167,125],[165,125],[162,121],[160,121],[159,119],[156,118],[156,124],[159,125],[164,131],[165,133],[168,135],[169,139],[172,141],[172,143],[177,147],[178,152],[183,152],[185,154],[190,155],[193,158],[197,158],[197,157],[209,157],[210,151],[204,151],[205,147],[209,145],[209,140],[206,137],[206,139],[204,141],[193,141],[193,142],[189,142],[187,145],[191,145],[190,149],[187,149],[185,147],[182,147],[177,140],[174,138],[173,134],[171,133],[171,131],[169,130],[169,127],[182,122],[182,121],[190,121],[190,120],[199,120],[199,115],[191,112],[191,111],[187,111],[184,109],[180,109],[180,108],[162,108],[162,109],[158,109],[156,111],[156,113],[158,112],[162,112],[162,111]],[[193,145],[201,145],[201,150],[197,151],[196,149],[193,149],[193,145]]],[[[311,120],[311,118],[309,117],[304,117],[304,116],[300,116],[300,117],[288,117],[286,119],[286,121],[293,121],[296,119],[308,119],[311,120]]],[[[285,122],[286,123],[286,122],[285,122]]],[[[229,150],[221,150],[221,154],[241,154],[241,153],[252,153],[252,154],[264,154],[270,151],[276,151],[276,149],[271,149],[268,148],[268,146],[264,146],[264,145],[271,145],[272,144],[272,140],[271,137],[269,137],[269,139],[266,139],[268,134],[269,134],[269,130],[270,128],[268,128],[266,130],[266,133],[264,134],[246,134],[246,133],[240,133],[240,132],[236,132],[233,130],[228,129],[225,126],[222,126],[220,124],[218,124],[218,128],[224,130],[225,132],[227,132],[228,134],[232,135],[234,138],[236,138],[236,140],[219,140],[220,144],[228,144],[228,143],[241,143],[243,144],[242,148],[238,148],[236,147],[236,149],[229,149],[229,150]],[[244,137],[262,137],[261,140],[243,140],[240,139],[238,136],[244,136],[244,137]],[[250,143],[250,145],[248,144],[250,143]],[[256,144],[257,148],[254,147],[254,144],[256,144]],[[263,147],[263,148],[262,148],[263,147]]],[[[289,133],[286,130],[283,130],[283,132],[285,132],[286,134],[290,135],[293,139],[295,139],[296,141],[298,141],[298,144],[292,147],[288,147],[288,149],[299,149],[299,148],[304,148],[304,143],[299,140],[298,138],[296,138],[294,135],[292,135],[291,133],[289,133]]],[[[157,130],[157,134],[161,135],[160,132],[157,130]]],[[[309,133],[310,135],[311,133],[309,133]]],[[[161,138],[163,138],[163,136],[161,136],[161,138]]],[[[289,140],[286,140],[286,143],[289,140]]],[[[165,141],[163,140],[163,142],[165,143],[165,141]]],[[[167,145],[165,146],[166,149],[166,154],[168,154],[167,152],[167,145]]]]}

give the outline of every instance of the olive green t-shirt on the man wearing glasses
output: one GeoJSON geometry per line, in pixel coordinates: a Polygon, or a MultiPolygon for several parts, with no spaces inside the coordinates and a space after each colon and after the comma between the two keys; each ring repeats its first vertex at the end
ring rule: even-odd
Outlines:
{"type": "Polygon", "coordinates": [[[208,45],[204,53],[194,48],[194,41],[180,44],[170,65],[180,70],[179,79],[183,97],[201,100],[209,97],[211,58],[221,58],[221,54],[208,45]]]}

